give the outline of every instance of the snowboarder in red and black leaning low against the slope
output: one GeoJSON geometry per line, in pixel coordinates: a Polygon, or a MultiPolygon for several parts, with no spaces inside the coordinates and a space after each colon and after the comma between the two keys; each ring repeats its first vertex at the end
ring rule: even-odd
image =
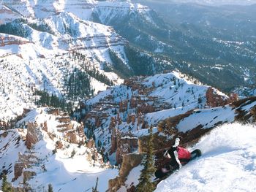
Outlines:
{"type": "Polygon", "coordinates": [[[163,168],[163,172],[168,171],[168,169],[181,169],[181,166],[187,164],[190,161],[191,153],[189,150],[185,149],[184,147],[178,146],[180,142],[179,138],[175,139],[175,143],[169,150],[166,150],[164,153],[165,158],[170,158],[170,166],[163,168]],[[167,169],[167,170],[165,170],[167,169]]]}

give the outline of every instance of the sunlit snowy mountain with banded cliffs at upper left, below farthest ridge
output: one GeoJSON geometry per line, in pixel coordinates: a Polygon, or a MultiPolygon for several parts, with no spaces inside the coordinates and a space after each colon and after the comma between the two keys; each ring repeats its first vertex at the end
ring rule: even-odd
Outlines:
{"type": "MultiPolygon", "coordinates": [[[[122,82],[117,74],[102,70],[103,62],[112,62],[108,55],[110,47],[116,53],[124,52],[124,39],[112,28],[80,20],[67,12],[45,20],[12,23],[12,26],[18,30],[16,35],[0,34],[0,83],[4,91],[0,98],[1,119],[15,118],[23,108],[34,107],[32,95],[35,90],[65,95],[64,78],[68,78],[74,69],[84,71],[81,68],[85,67],[85,61],[70,55],[72,51],[84,55],[87,68],[97,69],[99,74],[105,74],[116,84],[122,82]],[[44,27],[38,31],[36,27],[31,28],[32,25],[44,27]],[[46,29],[50,32],[45,32],[46,29]]],[[[107,85],[91,77],[91,88],[96,94],[105,90],[107,85]]]]}

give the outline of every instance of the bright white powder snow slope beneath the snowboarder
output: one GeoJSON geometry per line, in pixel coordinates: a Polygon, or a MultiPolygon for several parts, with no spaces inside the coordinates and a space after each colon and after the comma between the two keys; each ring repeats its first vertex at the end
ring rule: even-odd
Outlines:
{"type": "Polygon", "coordinates": [[[157,185],[162,191],[256,191],[256,127],[215,128],[195,145],[203,155],[157,185]]]}

